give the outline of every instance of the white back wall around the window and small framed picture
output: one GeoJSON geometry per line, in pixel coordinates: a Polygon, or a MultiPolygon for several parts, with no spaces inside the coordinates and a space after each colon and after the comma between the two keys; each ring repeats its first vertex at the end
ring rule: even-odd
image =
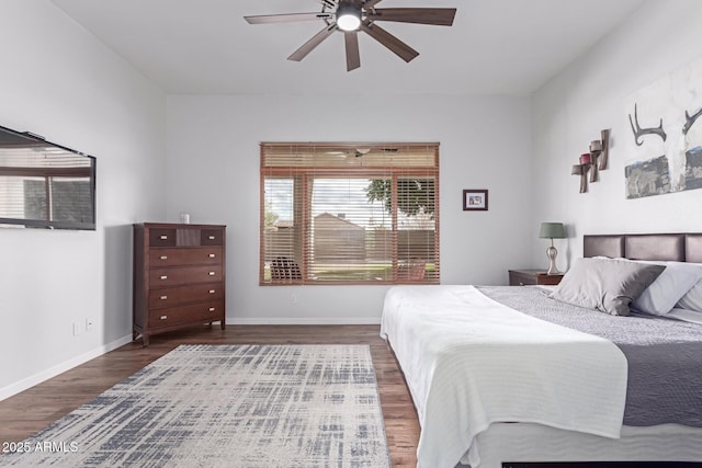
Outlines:
{"type": "Polygon", "coordinates": [[[506,284],[530,262],[530,125],[523,98],[169,96],[168,218],[228,226],[229,322],[374,323],[384,286],[258,285],[259,142],[439,141],[442,283],[506,284]]]}

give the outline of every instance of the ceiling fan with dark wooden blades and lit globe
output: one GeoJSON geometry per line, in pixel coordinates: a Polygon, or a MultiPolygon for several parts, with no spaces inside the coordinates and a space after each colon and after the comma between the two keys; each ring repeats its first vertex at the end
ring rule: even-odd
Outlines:
{"type": "Polygon", "coordinates": [[[455,8],[375,8],[382,0],[318,0],[321,11],[316,13],[262,14],[244,16],[250,24],[288,23],[322,20],[325,27],[295,50],[288,60],[301,61],[336,31],[344,35],[347,70],[361,66],[359,32],[364,32],[409,62],[419,53],[376,24],[378,21],[400,23],[453,25],[455,8]]]}

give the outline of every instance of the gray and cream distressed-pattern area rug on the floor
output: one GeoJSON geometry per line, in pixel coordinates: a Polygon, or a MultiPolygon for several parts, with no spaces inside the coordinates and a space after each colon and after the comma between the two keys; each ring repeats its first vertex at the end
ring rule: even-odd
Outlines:
{"type": "Polygon", "coordinates": [[[182,345],[0,466],[389,467],[366,345],[182,345]]]}

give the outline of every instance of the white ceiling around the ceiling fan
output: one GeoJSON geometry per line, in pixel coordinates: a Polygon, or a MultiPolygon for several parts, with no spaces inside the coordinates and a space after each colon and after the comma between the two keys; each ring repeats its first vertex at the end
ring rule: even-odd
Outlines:
{"type": "Polygon", "coordinates": [[[244,15],[313,12],[315,0],[53,0],[169,94],[528,95],[644,0],[384,0],[378,8],[453,7],[452,27],[384,22],[417,49],[406,64],[360,34],[346,71],[333,34],[302,62],[286,57],[319,22],[251,25],[244,15]]]}

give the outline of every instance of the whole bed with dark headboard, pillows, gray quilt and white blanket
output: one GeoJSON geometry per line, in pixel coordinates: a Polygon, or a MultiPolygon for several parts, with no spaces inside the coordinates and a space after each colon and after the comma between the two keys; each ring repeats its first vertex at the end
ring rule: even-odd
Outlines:
{"type": "Polygon", "coordinates": [[[701,233],[585,236],[556,287],[390,288],[381,335],[417,409],[418,466],[702,461],[695,263],[701,233]]]}

